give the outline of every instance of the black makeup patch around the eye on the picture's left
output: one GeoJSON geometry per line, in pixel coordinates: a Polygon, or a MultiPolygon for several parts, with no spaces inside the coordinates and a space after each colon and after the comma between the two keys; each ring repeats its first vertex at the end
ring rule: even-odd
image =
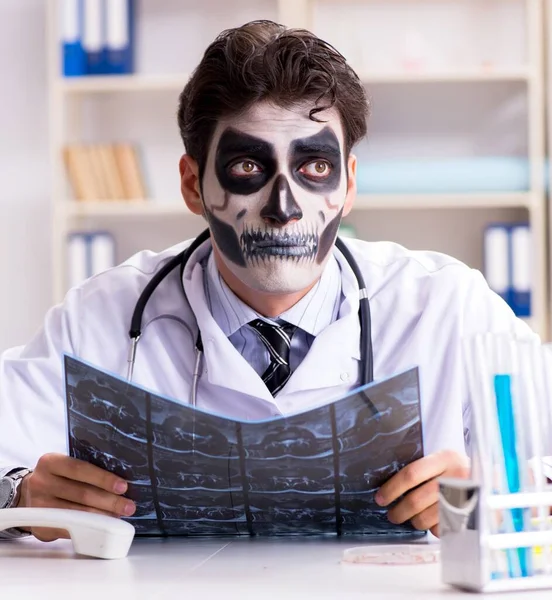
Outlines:
{"type": "Polygon", "coordinates": [[[276,169],[272,144],[231,127],[222,134],[215,171],[223,189],[241,196],[254,194],[272,179],[276,169]]]}

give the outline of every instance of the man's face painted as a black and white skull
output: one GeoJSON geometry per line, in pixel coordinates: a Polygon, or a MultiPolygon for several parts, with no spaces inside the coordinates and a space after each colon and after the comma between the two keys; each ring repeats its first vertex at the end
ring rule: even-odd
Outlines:
{"type": "Polygon", "coordinates": [[[214,243],[251,289],[295,293],[316,281],[331,254],[347,194],[337,111],[317,123],[308,107],[267,102],[221,120],[202,182],[214,243]]]}

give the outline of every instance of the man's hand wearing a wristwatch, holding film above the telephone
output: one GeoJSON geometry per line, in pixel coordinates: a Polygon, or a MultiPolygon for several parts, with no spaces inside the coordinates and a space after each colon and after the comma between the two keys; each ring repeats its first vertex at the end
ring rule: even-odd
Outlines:
{"type": "MultiPolygon", "coordinates": [[[[63,454],[40,458],[20,490],[20,508],[71,508],[115,517],[130,516],[136,510],[134,502],[121,497],[127,490],[126,481],[63,454]]],[[[69,537],[63,529],[33,528],[31,533],[43,542],[69,537]]]]}

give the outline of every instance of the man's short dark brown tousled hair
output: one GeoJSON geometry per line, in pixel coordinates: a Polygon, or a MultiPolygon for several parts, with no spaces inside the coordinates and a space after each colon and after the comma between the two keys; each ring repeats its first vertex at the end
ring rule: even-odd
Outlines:
{"type": "Polygon", "coordinates": [[[261,100],[282,107],[312,101],[314,121],[335,106],[347,154],[366,135],[369,103],[345,58],[310,31],[252,21],[215,39],[180,95],[180,134],[201,174],[218,120],[261,100]]]}

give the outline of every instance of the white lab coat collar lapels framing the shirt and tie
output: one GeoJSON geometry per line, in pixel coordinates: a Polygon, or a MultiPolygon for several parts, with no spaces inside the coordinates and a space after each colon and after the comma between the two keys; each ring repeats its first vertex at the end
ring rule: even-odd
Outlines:
{"type": "Polygon", "coordinates": [[[272,397],[261,377],[234,348],[214,320],[205,297],[204,272],[201,261],[211,249],[211,242],[202,244],[184,269],[183,284],[190,307],[196,317],[203,339],[206,376],[212,385],[246,393],[252,397],[277,403],[278,398],[294,392],[343,385],[343,374],[354,361],[360,360],[359,287],[351,267],[334,248],[342,278],[344,300],[339,318],[321,331],[305,359],[291,375],[280,394],[272,397]],[[218,368],[224,365],[224,372],[218,368]]]}

